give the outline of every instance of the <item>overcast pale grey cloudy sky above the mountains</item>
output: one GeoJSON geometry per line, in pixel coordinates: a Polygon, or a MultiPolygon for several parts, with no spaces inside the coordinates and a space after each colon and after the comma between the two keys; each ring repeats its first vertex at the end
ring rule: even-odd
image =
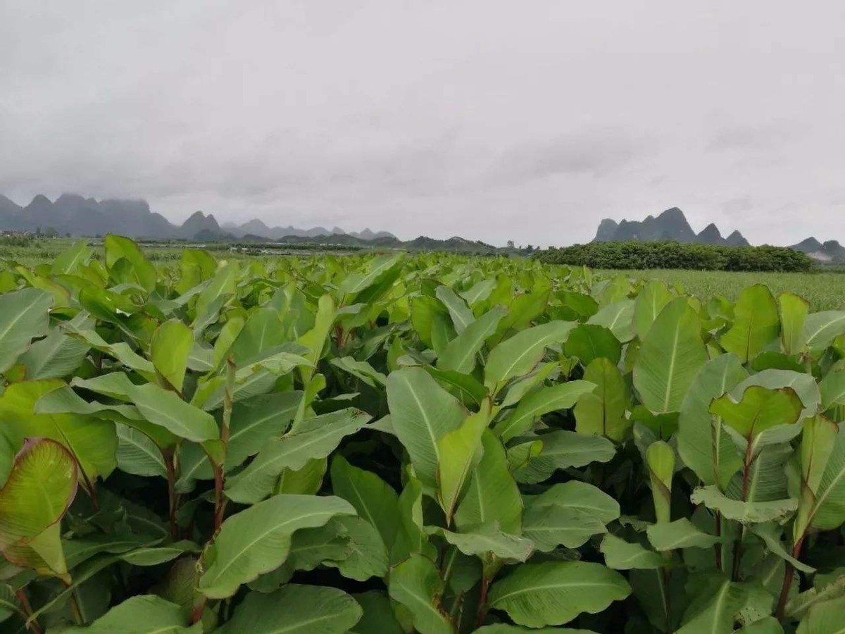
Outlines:
{"type": "Polygon", "coordinates": [[[567,244],[845,241],[845,4],[0,3],[0,193],[567,244]]]}

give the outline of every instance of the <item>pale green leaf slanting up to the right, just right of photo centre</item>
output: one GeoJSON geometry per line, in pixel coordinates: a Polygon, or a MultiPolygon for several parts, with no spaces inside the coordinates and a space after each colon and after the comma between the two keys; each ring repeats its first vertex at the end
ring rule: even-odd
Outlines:
{"type": "Polygon", "coordinates": [[[563,343],[574,322],[550,321],[535,325],[499,343],[490,351],[484,367],[484,385],[493,391],[504,381],[528,374],[542,359],[543,351],[563,343]]]}

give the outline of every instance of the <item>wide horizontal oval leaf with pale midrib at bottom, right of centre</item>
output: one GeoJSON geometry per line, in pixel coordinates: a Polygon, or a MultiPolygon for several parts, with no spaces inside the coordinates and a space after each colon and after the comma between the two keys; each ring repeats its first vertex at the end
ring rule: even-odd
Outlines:
{"type": "Polygon", "coordinates": [[[596,614],[630,594],[619,572],[584,561],[523,564],[493,583],[488,603],[521,626],[568,623],[584,612],[596,614]]]}

